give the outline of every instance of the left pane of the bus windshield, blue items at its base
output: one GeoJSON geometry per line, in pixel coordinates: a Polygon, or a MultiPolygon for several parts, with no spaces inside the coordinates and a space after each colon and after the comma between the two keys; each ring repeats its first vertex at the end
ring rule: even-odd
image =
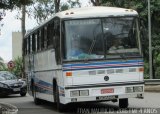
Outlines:
{"type": "Polygon", "coordinates": [[[104,58],[100,19],[65,21],[65,60],[104,58]]]}

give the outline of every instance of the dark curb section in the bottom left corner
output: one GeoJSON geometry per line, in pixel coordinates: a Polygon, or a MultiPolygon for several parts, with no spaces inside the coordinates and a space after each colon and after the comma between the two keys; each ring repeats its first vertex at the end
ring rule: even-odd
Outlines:
{"type": "Polygon", "coordinates": [[[0,102],[0,114],[17,114],[18,108],[8,103],[0,102]]]}

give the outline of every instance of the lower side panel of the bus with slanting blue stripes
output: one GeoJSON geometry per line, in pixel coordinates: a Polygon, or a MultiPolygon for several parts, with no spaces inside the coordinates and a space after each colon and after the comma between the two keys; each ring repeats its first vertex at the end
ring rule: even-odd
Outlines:
{"type": "MultiPolygon", "coordinates": [[[[26,71],[29,82],[29,94],[32,95],[30,86],[33,86],[31,85],[31,80],[33,80],[36,86],[36,97],[54,102],[53,79],[56,79],[58,85],[63,85],[61,65],[53,64],[56,63],[55,52],[51,49],[37,53],[33,58],[34,72],[26,71]]],[[[26,57],[26,65],[27,61],[30,61],[28,57],[26,57]]]]}

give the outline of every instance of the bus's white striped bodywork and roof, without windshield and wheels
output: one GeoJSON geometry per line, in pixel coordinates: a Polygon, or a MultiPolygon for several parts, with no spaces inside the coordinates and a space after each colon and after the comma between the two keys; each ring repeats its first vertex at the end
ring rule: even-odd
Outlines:
{"type": "MultiPolygon", "coordinates": [[[[108,59],[105,57],[103,60],[102,58],[99,58],[95,61],[84,58],[84,60],[76,61],[75,59],[73,61],[71,60],[71,62],[66,61],[63,56],[63,54],[66,53],[66,50],[63,49],[65,48],[65,46],[63,46],[65,41],[63,40],[67,40],[64,38],[65,30],[63,28],[63,21],[74,19],[99,19],[105,17],[119,18],[125,16],[137,17],[138,14],[134,10],[107,7],[67,10],[57,13],[50,20],[27,33],[24,41],[28,43],[30,40],[29,43],[32,43],[25,45],[26,47],[23,51],[25,52],[25,74],[27,77],[30,95],[32,95],[33,87],[35,86],[36,89],[34,92],[36,93],[37,98],[54,102],[53,87],[55,84],[53,83],[53,80],[55,79],[58,86],[60,103],[62,104],[87,101],[112,101],[115,99],[133,97],[142,98],[144,94],[144,82],[143,58],[141,55],[135,55],[130,59],[119,55],[119,58],[108,59]],[[96,14],[96,12],[98,13],[96,14]],[[58,18],[58,20],[61,21],[55,21],[55,18],[58,18]],[[53,23],[54,21],[55,23],[53,23]],[[53,29],[51,29],[52,26],[53,29]],[[55,28],[56,30],[54,30],[55,28]],[[56,39],[57,34],[51,34],[52,32],[60,32],[60,34],[58,34],[59,39],[56,39]],[[43,33],[43,35],[41,33],[43,33]],[[40,39],[41,37],[43,38],[40,39]],[[53,39],[51,40],[48,38],[53,39]],[[46,44],[52,44],[52,41],[55,41],[55,47],[52,45],[55,49],[51,49],[49,47],[50,45],[47,49],[47,47],[45,47],[46,44]],[[42,46],[44,49],[41,49],[40,46],[42,46]],[[35,48],[35,52],[32,50],[33,48],[35,48]],[[58,50],[58,57],[60,58],[60,62],[58,61],[59,63],[56,60],[56,49],[58,50]]],[[[107,26],[104,28],[106,31],[109,30],[107,26]]],[[[134,30],[135,29],[138,31],[138,28],[134,28],[134,30]]],[[[92,32],[95,31],[97,30],[94,29],[92,32]]],[[[139,37],[137,38],[140,42],[139,37]]],[[[92,40],[92,45],[95,45],[95,39],[92,40]]],[[[70,41],[68,40],[68,42],[70,41]]],[[[92,45],[88,50],[88,54],[92,52],[92,45]]],[[[99,46],[101,46],[101,44],[99,46]]],[[[97,50],[98,49],[99,47],[97,47],[97,50]]],[[[125,51],[127,52],[127,50],[125,51]]],[[[139,52],[141,54],[141,48],[139,49],[139,52]]]]}

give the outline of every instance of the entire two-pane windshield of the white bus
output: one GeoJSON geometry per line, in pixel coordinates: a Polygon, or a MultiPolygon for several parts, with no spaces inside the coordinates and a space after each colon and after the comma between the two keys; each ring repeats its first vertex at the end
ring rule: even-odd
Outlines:
{"type": "Polygon", "coordinates": [[[140,55],[135,17],[65,21],[65,60],[128,58],[140,55]]]}

